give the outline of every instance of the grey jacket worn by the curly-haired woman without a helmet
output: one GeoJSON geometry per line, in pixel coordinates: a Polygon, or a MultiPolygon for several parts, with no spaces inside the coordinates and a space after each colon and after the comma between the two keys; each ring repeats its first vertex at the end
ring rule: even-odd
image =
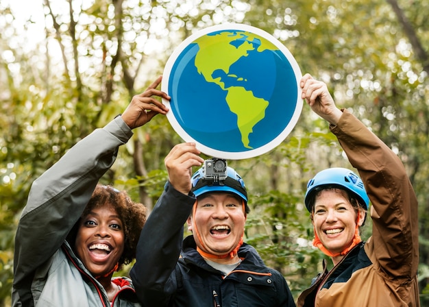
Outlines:
{"type": "MultiPolygon", "coordinates": [[[[110,306],[103,286],[75,256],[66,236],[99,178],[112,166],[132,131],[121,117],[80,140],[32,184],[15,238],[12,306],[110,306]]],[[[71,242],[70,244],[74,244],[71,242]]],[[[140,306],[131,280],[114,307],[140,306]]]]}

